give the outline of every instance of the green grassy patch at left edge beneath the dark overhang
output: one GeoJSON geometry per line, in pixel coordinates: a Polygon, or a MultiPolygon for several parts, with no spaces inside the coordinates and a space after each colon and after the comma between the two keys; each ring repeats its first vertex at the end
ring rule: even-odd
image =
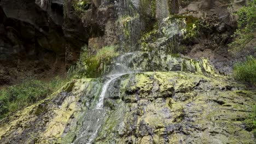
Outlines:
{"type": "Polygon", "coordinates": [[[32,105],[56,91],[65,81],[56,77],[53,81],[30,80],[0,90],[0,118],[32,105]]]}

